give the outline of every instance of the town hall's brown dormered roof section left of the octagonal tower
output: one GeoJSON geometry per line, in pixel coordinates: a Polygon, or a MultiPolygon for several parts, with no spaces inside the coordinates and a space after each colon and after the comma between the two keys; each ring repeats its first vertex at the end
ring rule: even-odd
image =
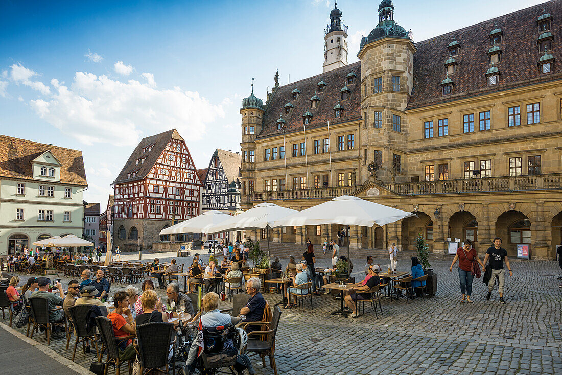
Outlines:
{"type": "MultiPolygon", "coordinates": [[[[315,129],[327,125],[327,121],[331,124],[344,123],[354,119],[361,118],[361,62],[343,66],[327,73],[318,74],[297,82],[289,83],[279,87],[271,97],[268,105],[266,106],[263,126],[261,133],[257,138],[264,138],[270,135],[282,134],[282,130],[286,133],[302,132],[302,115],[306,111],[312,114],[310,123],[306,125],[306,129],[315,129]],[[347,74],[351,72],[357,74],[355,83],[347,84],[347,74]],[[318,83],[324,81],[327,85],[324,87],[323,92],[318,92],[318,83]],[[350,90],[347,100],[341,101],[341,105],[345,107],[345,111],[341,118],[334,118],[334,106],[340,100],[339,91],[345,87],[350,90]],[[292,92],[294,89],[300,91],[300,95],[296,100],[292,99],[292,92]],[[310,98],[314,96],[320,98],[320,102],[316,108],[310,107],[310,98]],[[291,109],[290,114],[285,114],[285,104],[290,102],[294,108],[291,109]],[[286,121],[282,130],[277,130],[277,120],[279,115],[286,121]]],[[[230,179],[229,179],[230,180],[230,179]]]]}

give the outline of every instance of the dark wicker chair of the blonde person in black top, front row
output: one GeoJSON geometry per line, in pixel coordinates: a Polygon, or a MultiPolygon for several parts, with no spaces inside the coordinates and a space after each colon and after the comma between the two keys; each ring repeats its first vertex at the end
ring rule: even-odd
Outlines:
{"type": "MultiPolygon", "coordinates": [[[[174,324],[164,322],[140,324],[135,331],[137,341],[134,342],[134,347],[140,361],[140,374],[144,375],[149,372],[167,374],[169,371],[168,356],[170,351],[174,351],[174,344],[177,340],[175,337],[172,341],[174,324]],[[165,367],[166,371],[162,371],[162,367],[165,367]]],[[[172,361],[172,369],[175,374],[174,354],[172,361]]]]}

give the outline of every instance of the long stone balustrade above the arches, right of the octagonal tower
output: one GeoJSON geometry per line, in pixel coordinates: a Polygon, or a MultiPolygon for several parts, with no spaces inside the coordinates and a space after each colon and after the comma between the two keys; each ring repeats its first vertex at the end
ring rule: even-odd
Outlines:
{"type": "Polygon", "coordinates": [[[399,195],[525,191],[562,188],[562,173],[400,182],[389,188],[399,195]]]}

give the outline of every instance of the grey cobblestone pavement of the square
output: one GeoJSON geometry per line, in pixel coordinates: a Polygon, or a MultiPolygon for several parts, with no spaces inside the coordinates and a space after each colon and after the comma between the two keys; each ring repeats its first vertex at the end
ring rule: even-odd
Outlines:
{"type": "MultiPolygon", "coordinates": [[[[166,255],[158,257],[166,261],[173,254],[166,255]]],[[[123,257],[138,259],[138,255],[123,257]]],[[[319,266],[330,263],[327,257],[317,260],[319,266]]],[[[191,258],[178,263],[184,261],[191,258]]],[[[387,259],[374,261],[383,269],[388,264],[387,259]]],[[[364,262],[353,260],[357,281],[363,277],[364,262]]],[[[556,286],[560,275],[556,262],[511,260],[514,276],[506,277],[506,305],[498,302],[497,287],[486,301],[487,287],[481,279],[474,279],[474,303],[460,304],[458,274],[456,267],[448,272],[450,264],[450,257],[432,260],[436,296],[409,304],[404,299],[383,299],[383,316],[379,314],[378,319],[369,304],[365,304],[365,314],[355,319],[332,316],[329,313],[339,308],[339,301],[330,295],[313,297],[312,310],[310,303],[304,312],[301,308],[282,310],[275,349],[279,373],[562,374],[562,289],[556,286]]],[[[398,269],[409,270],[405,255],[398,269]]],[[[124,287],[114,284],[112,292],[124,287]]],[[[163,290],[157,292],[164,296],[163,290]]],[[[269,292],[264,297],[270,305],[280,301],[280,295],[269,292]]],[[[227,300],[220,308],[229,306],[227,300]]],[[[25,329],[19,331],[25,333],[25,329]]],[[[44,334],[34,339],[46,341],[44,334]]],[[[65,345],[66,340],[56,340],[50,347],[70,357],[72,345],[69,351],[65,345]]],[[[89,366],[93,355],[78,350],[76,358],[89,366]]],[[[273,374],[259,358],[253,362],[257,373],[273,374]]]]}

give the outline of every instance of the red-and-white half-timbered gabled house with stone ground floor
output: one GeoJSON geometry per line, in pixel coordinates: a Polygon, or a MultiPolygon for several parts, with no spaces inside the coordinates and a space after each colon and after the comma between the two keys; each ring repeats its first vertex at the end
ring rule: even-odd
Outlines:
{"type": "Polygon", "coordinates": [[[200,213],[201,181],[175,129],[144,138],[113,185],[115,245],[124,250],[149,248],[161,229],[200,213]]]}

